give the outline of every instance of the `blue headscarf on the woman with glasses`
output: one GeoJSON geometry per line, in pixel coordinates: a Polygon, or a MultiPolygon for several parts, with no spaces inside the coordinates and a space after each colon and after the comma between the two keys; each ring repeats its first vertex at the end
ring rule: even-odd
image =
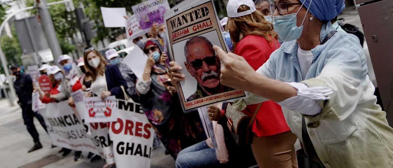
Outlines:
{"type": "MultiPolygon", "coordinates": [[[[309,7],[311,0],[299,0],[304,7],[309,7]]],[[[330,21],[344,10],[344,0],[312,0],[310,13],[321,21],[330,21]]]]}

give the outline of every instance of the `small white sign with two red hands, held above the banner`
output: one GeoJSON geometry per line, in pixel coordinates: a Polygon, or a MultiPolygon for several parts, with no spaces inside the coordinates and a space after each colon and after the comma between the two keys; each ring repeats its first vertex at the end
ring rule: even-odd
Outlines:
{"type": "Polygon", "coordinates": [[[84,122],[112,122],[117,120],[117,103],[115,96],[108,96],[105,99],[101,97],[86,97],[83,99],[86,106],[87,114],[84,122]]]}

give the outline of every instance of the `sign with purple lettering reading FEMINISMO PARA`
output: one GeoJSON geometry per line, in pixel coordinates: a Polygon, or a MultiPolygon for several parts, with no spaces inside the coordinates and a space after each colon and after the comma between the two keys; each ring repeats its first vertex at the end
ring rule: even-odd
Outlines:
{"type": "Polygon", "coordinates": [[[168,0],[148,0],[132,6],[132,12],[139,20],[143,34],[149,33],[153,24],[164,24],[164,14],[169,11],[168,0]]]}

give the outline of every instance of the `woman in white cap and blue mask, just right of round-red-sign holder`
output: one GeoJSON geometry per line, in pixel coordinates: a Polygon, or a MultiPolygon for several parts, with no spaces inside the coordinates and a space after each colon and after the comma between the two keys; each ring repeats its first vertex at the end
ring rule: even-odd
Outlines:
{"type": "Polygon", "coordinates": [[[73,86],[77,80],[79,80],[78,69],[76,68],[75,62],[69,55],[61,55],[57,60],[59,65],[64,70],[64,77],[68,79],[70,86],[73,86]]]}

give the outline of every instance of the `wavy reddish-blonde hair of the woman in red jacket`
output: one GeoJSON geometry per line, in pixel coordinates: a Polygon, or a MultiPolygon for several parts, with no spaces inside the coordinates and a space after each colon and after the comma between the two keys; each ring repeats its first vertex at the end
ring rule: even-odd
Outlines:
{"type": "MultiPolygon", "coordinates": [[[[250,10],[250,7],[241,5],[237,12],[250,10]]],[[[236,46],[246,35],[256,35],[264,37],[268,42],[272,38],[277,38],[277,33],[273,29],[273,24],[266,21],[264,16],[258,10],[250,15],[240,16],[237,18],[228,18],[226,29],[231,35],[233,46],[236,46]]]]}

